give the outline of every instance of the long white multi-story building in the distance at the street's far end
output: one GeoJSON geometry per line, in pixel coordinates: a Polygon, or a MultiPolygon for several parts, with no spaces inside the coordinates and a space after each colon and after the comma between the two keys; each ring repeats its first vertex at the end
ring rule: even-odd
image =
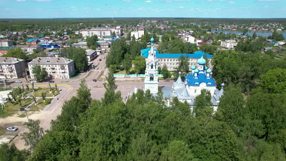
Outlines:
{"type": "Polygon", "coordinates": [[[115,32],[116,35],[121,35],[122,29],[120,28],[92,28],[89,30],[80,31],[80,33],[82,34],[82,37],[90,37],[93,35],[111,36],[112,32],[115,32]]]}

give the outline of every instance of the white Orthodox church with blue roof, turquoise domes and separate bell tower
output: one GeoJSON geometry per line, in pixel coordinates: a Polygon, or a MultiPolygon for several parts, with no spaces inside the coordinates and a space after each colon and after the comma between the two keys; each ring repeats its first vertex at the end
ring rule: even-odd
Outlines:
{"type": "MultiPolygon", "coordinates": [[[[154,39],[151,38],[151,49],[146,60],[145,70],[145,87],[144,91],[150,90],[151,94],[156,95],[158,92],[159,80],[158,80],[158,61],[156,58],[156,52],[153,48],[154,39]]],[[[203,55],[197,61],[197,66],[191,67],[191,73],[185,76],[185,81],[181,79],[181,72],[179,72],[178,79],[174,82],[171,87],[163,87],[163,97],[168,101],[167,106],[170,105],[173,97],[177,97],[180,101],[187,101],[190,106],[195,105],[195,97],[201,94],[201,90],[206,89],[211,94],[211,102],[214,107],[214,111],[217,110],[217,106],[220,102],[220,98],[223,95],[222,89],[218,90],[214,79],[211,77],[212,72],[206,66],[206,60],[203,55]]]]}

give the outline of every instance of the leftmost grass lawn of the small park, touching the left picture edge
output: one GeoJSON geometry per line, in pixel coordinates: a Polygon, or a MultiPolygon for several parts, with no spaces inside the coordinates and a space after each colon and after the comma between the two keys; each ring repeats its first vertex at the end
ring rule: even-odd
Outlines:
{"type": "MultiPolygon", "coordinates": [[[[21,99],[22,108],[25,108],[28,105],[30,105],[32,101],[33,101],[32,98],[27,98],[25,99],[24,103],[23,99],[21,99]]],[[[19,108],[20,108],[19,103],[12,105],[10,102],[6,102],[3,111],[0,110],[0,118],[5,118],[15,114],[19,110],[19,108]]]]}

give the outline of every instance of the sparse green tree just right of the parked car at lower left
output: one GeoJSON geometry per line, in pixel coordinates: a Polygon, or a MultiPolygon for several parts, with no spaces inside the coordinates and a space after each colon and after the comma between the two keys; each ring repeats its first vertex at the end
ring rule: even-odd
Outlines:
{"type": "Polygon", "coordinates": [[[40,139],[43,137],[44,130],[43,128],[40,128],[40,120],[30,119],[27,124],[27,128],[29,129],[29,132],[24,132],[21,136],[25,141],[25,146],[30,146],[30,151],[33,151],[40,139]]]}

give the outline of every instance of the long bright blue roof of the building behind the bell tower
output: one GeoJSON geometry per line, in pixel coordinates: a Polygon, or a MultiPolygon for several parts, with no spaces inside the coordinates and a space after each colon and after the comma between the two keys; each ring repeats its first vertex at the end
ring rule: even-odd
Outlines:
{"type": "MultiPolygon", "coordinates": [[[[144,48],[141,50],[141,55],[144,58],[148,58],[148,52],[151,48],[144,48]]],[[[156,57],[157,58],[180,58],[182,55],[184,57],[187,57],[187,55],[189,56],[189,58],[201,58],[203,54],[205,54],[203,51],[195,51],[194,53],[190,53],[190,54],[182,54],[182,53],[159,53],[157,49],[154,49],[154,51],[156,52],[156,57]]],[[[212,58],[212,55],[210,54],[206,54],[207,58],[212,58]]]]}

